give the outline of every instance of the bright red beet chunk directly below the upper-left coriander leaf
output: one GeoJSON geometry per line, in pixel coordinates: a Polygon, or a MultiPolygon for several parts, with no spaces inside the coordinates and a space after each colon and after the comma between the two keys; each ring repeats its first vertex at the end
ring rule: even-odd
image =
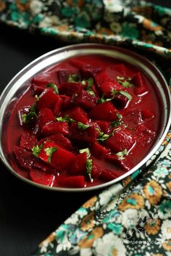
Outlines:
{"type": "Polygon", "coordinates": [[[55,94],[50,88],[46,88],[39,96],[39,100],[36,102],[36,108],[38,111],[45,107],[53,110],[57,99],[59,99],[59,96],[55,94]]]}

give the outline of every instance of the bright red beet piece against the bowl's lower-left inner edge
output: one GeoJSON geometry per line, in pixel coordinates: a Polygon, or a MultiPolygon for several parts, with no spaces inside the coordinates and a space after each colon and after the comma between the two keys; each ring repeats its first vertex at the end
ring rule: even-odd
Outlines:
{"type": "Polygon", "coordinates": [[[30,180],[45,186],[53,186],[54,175],[51,173],[44,173],[41,170],[31,169],[30,180]]]}

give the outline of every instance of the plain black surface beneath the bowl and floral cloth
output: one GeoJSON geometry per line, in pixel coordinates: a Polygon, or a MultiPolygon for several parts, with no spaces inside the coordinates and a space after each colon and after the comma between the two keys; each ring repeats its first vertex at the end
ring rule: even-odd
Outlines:
{"type": "MultiPolygon", "coordinates": [[[[170,1],[153,1],[171,7],[170,1]]],[[[9,80],[41,54],[64,44],[0,24],[0,92],[9,80]]],[[[30,255],[95,192],[46,191],[18,180],[0,165],[0,256],[30,255]]],[[[96,191],[97,192],[97,191],[96,191]]]]}

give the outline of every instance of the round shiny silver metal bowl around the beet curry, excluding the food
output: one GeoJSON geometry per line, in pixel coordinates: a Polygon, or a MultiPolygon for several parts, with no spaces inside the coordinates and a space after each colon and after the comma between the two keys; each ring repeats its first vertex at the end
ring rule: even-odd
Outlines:
{"type": "Polygon", "coordinates": [[[167,86],[167,82],[164,79],[162,73],[155,67],[148,59],[135,54],[133,51],[128,51],[127,49],[122,49],[116,46],[104,46],[101,44],[77,44],[72,46],[65,46],[54,51],[50,51],[47,54],[39,57],[38,59],[31,62],[25,68],[23,68],[20,73],[14,76],[14,78],[9,82],[7,87],[4,89],[0,97],[0,157],[1,161],[4,163],[6,168],[20,178],[22,181],[30,183],[31,185],[38,186],[42,189],[49,189],[55,191],[90,191],[93,189],[102,189],[106,186],[112,185],[121,181],[123,178],[130,176],[135,170],[142,168],[152,155],[157,151],[159,146],[162,144],[164,136],[166,136],[168,129],[170,128],[171,115],[170,115],[170,91],[167,86]],[[34,183],[33,181],[23,178],[18,174],[10,165],[10,155],[7,152],[7,127],[9,124],[9,118],[12,115],[12,110],[14,105],[20,96],[28,88],[27,82],[33,78],[37,73],[46,70],[47,68],[56,65],[59,62],[64,61],[70,57],[76,57],[80,55],[87,54],[99,54],[102,56],[113,57],[114,59],[119,59],[124,62],[128,62],[135,67],[141,69],[141,72],[146,74],[146,76],[153,81],[155,84],[155,90],[159,96],[160,111],[162,113],[161,117],[161,127],[159,128],[159,133],[157,138],[151,147],[151,150],[146,155],[146,157],[141,160],[134,168],[125,173],[124,175],[115,178],[107,183],[100,184],[98,186],[91,186],[83,189],[72,189],[72,188],[61,188],[61,187],[49,187],[44,186],[39,183],[34,183]]]}

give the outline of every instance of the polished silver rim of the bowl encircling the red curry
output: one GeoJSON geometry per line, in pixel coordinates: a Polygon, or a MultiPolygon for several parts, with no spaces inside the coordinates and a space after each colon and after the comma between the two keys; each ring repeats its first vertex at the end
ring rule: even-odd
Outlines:
{"type": "MultiPolygon", "coordinates": [[[[16,85],[17,81],[20,78],[22,78],[22,76],[25,75],[25,73],[26,74],[29,73],[29,70],[31,70],[31,68],[36,67],[36,65],[39,65],[39,63],[46,61],[51,56],[53,57],[55,55],[64,54],[65,58],[63,60],[65,60],[70,57],[75,57],[75,56],[80,56],[80,55],[86,54],[85,49],[86,50],[93,49],[93,52],[88,53],[88,54],[98,54],[98,53],[96,53],[96,51],[99,51],[100,49],[102,49],[103,53],[106,51],[109,51],[109,52],[115,51],[120,54],[120,57],[122,57],[122,56],[128,57],[127,59],[122,59],[123,61],[128,61],[128,59],[138,59],[138,67],[141,67],[141,63],[145,63],[146,68],[145,68],[145,70],[143,70],[143,72],[146,72],[146,69],[148,69],[149,67],[151,68],[150,70],[154,76],[154,82],[156,82],[157,84],[161,84],[161,83],[164,84],[164,86],[165,86],[164,90],[167,92],[167,102],[169,103],[169,105],[171,105],[171,96],[170,96],[170,91],[169,91],[169,88],[167,85],[167,81],[165,80],[164,75],[162,75],[160,70],[151,61],[149,61],[149,59],[142,57],[140,54],[137,54],[134,51],[130,51],[128,49],[124,49],[124,48],[118,47],[118,46],[108,46],[105,44],[72,44],[69,46],[64,46],[64,47],[61,47],[58,49],[54,49],[52,51],[47,52],[46,54],[41,55],[40,57],[33,60],[33,62],[30,62],[28,65],[26,65],[24,68],[22,68],[22,70],[20,70],[19,73],[14,75],[14,78],[12,78],[12,80],[9,81],[9,83],[4,88],[4,90],[2,91],[1,96],[0,96],[0,106],[1,106],[0,107],[0,136],[2,136],[3,117],[5,114],[7,105],[9,104],[9,102],[7,104],[4,104],[4,102],[5,102],[5,99],[7,99],[7,96],[9,96],[12,88],[16,85]],[[78,51],[81,51],[80,54],[77,54],[78,51]],[[73,55],[68,57],[68,53],[70,53],[70,52],[72,52],[73,55]],[[157,75],[157,77],[159,77],[159,79],[162,82],[160,82],[159,79],[157,77],[155,77],[155,75],[157,75]]],[[[130,62],[130,60],[128,62],[130,62]]],[[[56,62],[56,64],[57,64],[57,62],[56,62]]],[[[130,63],[130,64],[132,64],[132,63],[130,63]]],[[[52,67],[54,65],[55,65],[55,63],[51,64],[50,66],[52,67]]],[[[134,64],[132,64],[132,65],[134,65],[134,64]]],[[[47,69],[47,67],[46,67],[46,69],[47,69]]],[[[163,107],[165,107],[165,106],[163,106],[163,107]]],[[[168,109],[170,109],[169,107],[168,108],[166,107],[166,111],[168,109]]],[[[149,154],[147,154],[146,157],[144,157],[143,160],[141,160],[141,162],[138,163],[138,165],[135,165],[135,167],[130,169],[127,173],[122,174],[121,176],[115,178],[112,181],[108,181],[106,183],[102,183],[102,184],[99,184],[96,186],[88,186],[86,188],[65,188],[65,187],[45,186],[41,183],[36,183],[36,182],[30,181],[28,178],[24,178],[19,173],[17,173],[12,168],[12,166],[9,165],[9,163],[7,162],[7,160],[4,156],[3,146],[1,144],[1,142],[0,142],[0,160],[14,176],[16,176],[17,178],[20,178],[20,180],[25,181],[26,183],[29,183],[30,185],[37,186],[41,189],[48,189],[48,190],[52,190],[52,191],[65,191],[65,192],[71,192],[71,191],[72,192],[80,192],[80,191],[92,191],[92,190],[96,190],[96,189],[104,189],[107,186],[111,186],[114,183],[117,183],[119,181],[122,181],[124,178],[127,178],[128,176],[133,174],[135,172],[135,170],[138,170],[148,160],[150,160],[152,155],[157,151],[157,149],[159,149],[159,146],[162,144],[162,141],[163,141],[164,137],[167,135],[167,131],[170,128],[170,124],[171,124],[171,112],[167,111],[167,123],[164,125],[164,128],[162,129],[163,130],[162,135],[159,137],[157,142],[154,142],[154,144],[156,144],[156,145],[152,146],[152,148],[149,150],[149,154]]]]}

